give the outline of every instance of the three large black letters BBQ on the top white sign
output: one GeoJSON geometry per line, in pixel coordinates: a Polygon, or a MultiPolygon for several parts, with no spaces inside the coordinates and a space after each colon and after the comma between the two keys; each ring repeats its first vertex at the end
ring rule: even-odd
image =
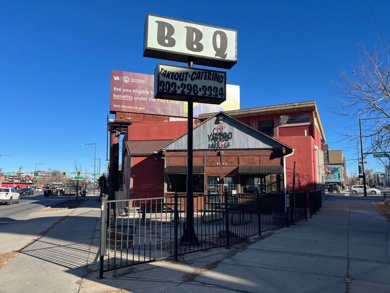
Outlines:
{"type": "MultiPolygon", "coordinates": [[[[157,42],[163,47],[174,47],[176,40],[174,38],[175,27],[165,21],[156,21],[157,23],[157,42]]],[[[186,47],[192,52],[203,51],[203,44],[200,42],[203,38],[202,32],[191,26],[185,26],[187,29],[186,34],[186,47]]],[[[216,30],[212,35],[212,46],[215,51],[215,57],[225,59],[227,56],[227,35],[221,30],[216,30]],[[219,45],[218,45],[219,41],[219,45]]]]}

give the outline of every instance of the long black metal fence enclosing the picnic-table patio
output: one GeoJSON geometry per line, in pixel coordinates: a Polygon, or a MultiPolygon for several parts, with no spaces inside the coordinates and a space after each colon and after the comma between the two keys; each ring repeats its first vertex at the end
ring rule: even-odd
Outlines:
{"type": "Polygon", "coordinates": [[[188,204],[186,196],[177,194],[102,198],[99,276],[140,263],[229,247],[256,234],[307,220],[305,192],[194,195],[194,214],[188,221],[193,227],[186,225],[188,204]],[[193,232],[190,242],[186,231],[193,232]]]}

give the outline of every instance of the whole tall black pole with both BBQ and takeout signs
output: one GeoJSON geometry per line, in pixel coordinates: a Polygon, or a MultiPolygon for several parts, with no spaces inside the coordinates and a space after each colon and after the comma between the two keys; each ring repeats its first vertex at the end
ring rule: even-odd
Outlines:
{"type": "Polygon", "coordinates": [[[237,63],[237,31],[154,14],[145,21],[143,56],[188,62],[157,64],[154,98],[188,102],[186,229],[182,243],[198,244],[194,229],[193,103],[226,101],[226,72],[195,69],[194,63],[230,69],[237,63]]]}

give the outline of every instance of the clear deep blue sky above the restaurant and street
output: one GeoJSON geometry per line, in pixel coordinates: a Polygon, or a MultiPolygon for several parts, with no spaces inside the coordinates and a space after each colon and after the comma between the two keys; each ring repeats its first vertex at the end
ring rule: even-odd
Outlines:
{"type": "MultiPolygon", "coordinates": [[[[370,0],[386,42],[390,1],[370,0]]],[[[381,42],[367,0],[0,1],[0,168],[14,172],[106,164],[110,70],[153,74],[142,56],[146,13],[237,30],[238,62],[227,83],[240,86],[241,109],[315,100],[331,149],[357,170],[356,121],[328,111],[332,81],[352,72],[362,42],[381,42]],[[13,156],[6,156],[13,155],[13,156]],[[98,163],[98,161],[97,161],[98,163]]],[[[172,62],[173,64],[176,64],[172,62]]],[[[186,64],[180,64],[186,66],[186,64]]],[[[366,168],[384,171],[374,158],[366,168]]]]}

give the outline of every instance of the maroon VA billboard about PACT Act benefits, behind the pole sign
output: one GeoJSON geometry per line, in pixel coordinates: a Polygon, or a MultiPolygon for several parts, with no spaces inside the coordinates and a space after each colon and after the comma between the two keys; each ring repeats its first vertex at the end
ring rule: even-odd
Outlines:
{"type": "MultiPolygon", "coordinates": [[[[187,102],[154,98],[154,75],[111,70],[110,106],[116,112],[187,117],[187,102]]],[[[226,85],[226,101],[220,105],[194,103],[199,114],[240,109],[240,87],[226,85]]]]}

